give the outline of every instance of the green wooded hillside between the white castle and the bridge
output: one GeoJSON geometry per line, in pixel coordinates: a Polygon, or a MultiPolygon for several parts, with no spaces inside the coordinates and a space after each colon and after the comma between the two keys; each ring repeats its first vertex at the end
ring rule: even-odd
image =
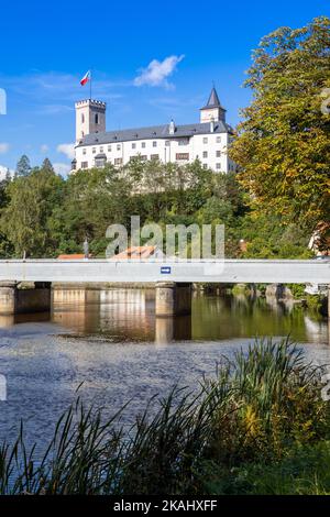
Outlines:
{"type": "MultiPolygon", "coordinates": [[[[130,217],[141,224],[224,224],[226,255],[246,257],[308,257],[309,235],[298,224],[284,224],[279,216],[255,218],[246,194],[233,173],[215,174],[200,162],[186,166],[132,160],[119,169],[78,170],[66,180],[46,158],[26,177],[0,185],[1,256],[57,256],[81,253],[85,238],[90,252],[103,256],[106,230],[121,223],[130,231],[130,217]],[[1,244],[2,243],[2,244],[1,244]]],[[[213,232],[215,237],[215,232],[213,232]]]]}

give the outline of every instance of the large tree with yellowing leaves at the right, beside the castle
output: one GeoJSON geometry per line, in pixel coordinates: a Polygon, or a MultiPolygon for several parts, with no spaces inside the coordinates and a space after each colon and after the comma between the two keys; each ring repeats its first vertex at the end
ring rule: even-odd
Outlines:
{"type": "Polygon", "coordinates": [[[330,20],[264,37],[246,86],[254,97],[230,154],[252,207],[309,230],[329,221],[330,117],[321,94],[330,87],[330,20]]]}

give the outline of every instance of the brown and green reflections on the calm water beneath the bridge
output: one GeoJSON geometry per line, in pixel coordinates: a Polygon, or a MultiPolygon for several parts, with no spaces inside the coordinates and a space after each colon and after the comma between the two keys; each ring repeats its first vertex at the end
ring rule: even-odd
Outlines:
{"type": "Polygon", "coordinates": [[[51,321],[79,336],[158,344],[288,334],[301,343],[330,342],[327,319],[292,299],[195,293],[193,316],[176,318],[155,318],[154,305],[153,289],[55,289],[51,315],[1,316],[0,328],[51,321]]]}

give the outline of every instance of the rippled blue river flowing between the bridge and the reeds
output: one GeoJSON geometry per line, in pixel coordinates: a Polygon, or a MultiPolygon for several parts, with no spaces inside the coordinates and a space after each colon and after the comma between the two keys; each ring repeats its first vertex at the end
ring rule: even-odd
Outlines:
{"type": "Polygon", "coordinates": [[[193,316],[154,317],[151,289],[55,290],[51,315],[0,317],[0,441],[12,441],[20,419],[29,443],[44,444],[78,393],[114,413],[128,400],[128,422],[153,395],[174,384],[198,386],[221,356],[256,336],[290,334],[307,359],[330,363],[329,328],[293,304],[195,294],[193,316]],[[82,384],[81,384],[82,383],[82,384]]]}

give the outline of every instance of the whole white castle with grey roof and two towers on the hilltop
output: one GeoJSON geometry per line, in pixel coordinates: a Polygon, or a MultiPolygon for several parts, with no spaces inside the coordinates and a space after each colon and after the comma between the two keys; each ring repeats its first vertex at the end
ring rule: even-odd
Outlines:
{"type": "Polygon", "coordinates": [[[212,88],[207,105],[200,109],[200,122],[123,131],[106,131],[106,102],[76,102],[76,146],[72,169],[122,166],[131,158],[176,162],[180,165],[199,160],[205,168],[228,173],[237,166],[227,153],[233,130],[226,122],[226,109],[212,88]]]}

